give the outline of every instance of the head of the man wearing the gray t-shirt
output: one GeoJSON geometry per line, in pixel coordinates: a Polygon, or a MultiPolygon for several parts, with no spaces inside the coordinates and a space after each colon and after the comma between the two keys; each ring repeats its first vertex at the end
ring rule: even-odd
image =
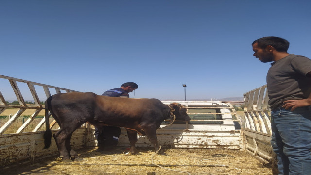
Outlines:
{"type": "Polygon", "coordinates": [[[275,36],[263,37],[252,43],[253,55],[263,63],[276,61],[279,53],[288,54],[289,45],[290,43],[283,38],[275,36]]]}

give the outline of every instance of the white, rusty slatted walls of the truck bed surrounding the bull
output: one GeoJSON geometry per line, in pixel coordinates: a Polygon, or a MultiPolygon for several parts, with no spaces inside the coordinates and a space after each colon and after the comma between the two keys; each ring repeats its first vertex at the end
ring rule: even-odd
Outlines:
{"type": "MultiPolygon", "coordinates": [[[[57,154],[54,140],[49,149],[42,149],[45,131],[42,102],[52,94],[74,90],[3,75],[0,75],[0,85],[0,167],[14,166],[21,161],[31,164],[35,159],[57,154]],[[32,104],[24,100],[26,93],[32,95],[32,104]],[[12,96],[16,97],[17,104],[6,100],[12,96]]],[[[172,102],[184,105],[191,121],[164,121],[157,129],[160,145],[171,149],[237,150],[248,152],[263,164],[275,164],[270,145],[271,119],[266,85],[244,94],[244,115],[237,115],[233,105],[218,100],[162,101],[163,104],[172,102]]],[[[52,116],[49,120],[52,133],[55,133],[59,127],[52,116]]],[[[71,138],[73,149],[96,147],[96,142],[94,127],[89,124],[82,125],[71,138]]],[[[125,129],[121,129],[118,146],[129,146],[125,129]]],[[[136,146],[152,145],[146,136],[138,135],[136,146]]]]}

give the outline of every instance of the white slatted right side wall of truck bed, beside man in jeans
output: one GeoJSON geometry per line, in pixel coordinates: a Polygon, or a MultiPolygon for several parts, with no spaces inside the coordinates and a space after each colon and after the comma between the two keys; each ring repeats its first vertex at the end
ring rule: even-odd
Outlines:
{"type": "Polygon", "coordinates": [[[245,142],[251,154],[263,160],[274,161],[270,144],[271,116],[267,85],[244,94],[245,142]]]}

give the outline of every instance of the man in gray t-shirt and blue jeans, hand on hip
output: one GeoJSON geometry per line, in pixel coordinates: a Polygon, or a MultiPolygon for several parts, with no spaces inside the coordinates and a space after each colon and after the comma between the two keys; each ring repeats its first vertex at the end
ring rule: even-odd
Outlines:
{"type": "Polygon", "coordinates": [[[282,175],[311,172],[311,60],[287,53],[289,42],[263,37],[252,43],[254,56],[272,62],[267,74],[271,145],[282,175]]]}

